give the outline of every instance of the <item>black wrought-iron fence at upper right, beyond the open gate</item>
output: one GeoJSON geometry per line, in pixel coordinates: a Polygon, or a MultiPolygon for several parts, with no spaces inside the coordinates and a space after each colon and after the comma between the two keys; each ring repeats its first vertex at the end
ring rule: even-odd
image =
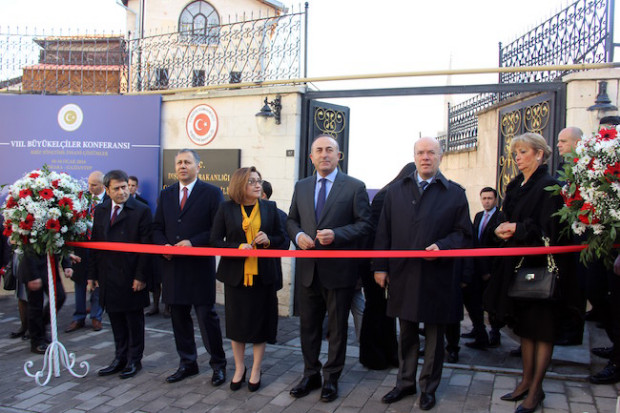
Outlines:
{"type": "MultiPolygon", "coordinates": [[[[500,67],[603,63],[613,61],[614,0],[577,0],[506,46],[499,45],[500,67]]],[[[549,82],[567,72],[500,74],[500,83],[549,82]]],[[[478,95],[449,108],[447,151],[476,147],[477,113],[516,93],[478,95]]]]}

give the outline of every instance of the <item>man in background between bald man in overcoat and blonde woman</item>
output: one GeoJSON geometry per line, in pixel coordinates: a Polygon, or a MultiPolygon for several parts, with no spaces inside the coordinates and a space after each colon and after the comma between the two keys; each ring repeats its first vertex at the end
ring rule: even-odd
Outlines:
{"type": "MultiPolygon", "coordinates": [[[[491,187],[484,187],[480,191],[480,202],[483,210],[474,217],[473,237],[475,248],[494,246],[492,237],[495,228],[504,221],[504,215],[497,207],[497,191],[491,187]]],[[[463,289],[463,302],[469,313],[473,329],[469,333],[461,334],[463,338],[473,338],[474,341],[465,343],[469,348],[484,349],[499,347],[501,344],[501,323],[490,319],[491,332],[487,334],[484,326],[484,311],[482,309],[482,295],[491,278],[491,257],[480,257],[474,260],[474,275],[471,283],[463,289]]]]}

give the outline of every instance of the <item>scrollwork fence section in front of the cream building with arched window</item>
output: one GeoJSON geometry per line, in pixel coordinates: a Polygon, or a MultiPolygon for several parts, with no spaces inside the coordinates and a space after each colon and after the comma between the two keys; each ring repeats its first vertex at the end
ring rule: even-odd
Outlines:
{"type": "Polygon", "coordinates": [[[293,79],[301,75],[304,13],[129,42],[130,89],[160,90],[293,79]]]}

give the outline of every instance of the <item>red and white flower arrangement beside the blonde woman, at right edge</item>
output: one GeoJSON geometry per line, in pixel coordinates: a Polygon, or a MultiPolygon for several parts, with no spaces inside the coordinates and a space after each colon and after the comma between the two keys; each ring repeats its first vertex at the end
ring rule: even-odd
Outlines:
{"type": "Polygon", "coordinates": [[[613,245],[620,231],[620,138],[616,129],[601,129],[584,136],[560,171],[561,188],[553,187],[564,198],[557,212],[570,224],[567,232],[584,236],[588,247],[581,252],[583,263],[596,258],[610,267],[613,245]]]}

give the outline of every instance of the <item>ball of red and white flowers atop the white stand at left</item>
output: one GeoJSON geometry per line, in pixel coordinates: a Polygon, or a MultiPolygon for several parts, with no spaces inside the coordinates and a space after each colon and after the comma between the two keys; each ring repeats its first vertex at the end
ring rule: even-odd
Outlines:
{"type": "Polygon", "coordinates": [[[66,255],[69,241],[82,240],[92,226],[85,184],[47,165],[9,187],[2,205],[5,236],[21,252],[66,255]]]}

